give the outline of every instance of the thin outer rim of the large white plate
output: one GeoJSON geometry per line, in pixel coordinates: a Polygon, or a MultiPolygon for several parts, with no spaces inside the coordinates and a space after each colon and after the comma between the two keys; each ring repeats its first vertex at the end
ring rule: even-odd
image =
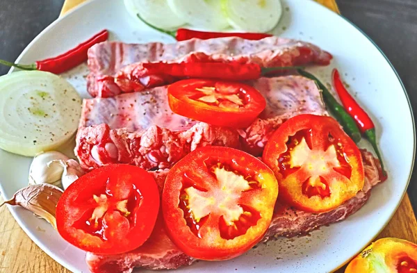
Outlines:
{"type": "MultiPolygon", "coordinates": [[[[85,2],[79,4],[79,6],[76,6],[74,8],[72,8],[71,10],[69,10],[67,13],[65,13],[65,15],[58,17],[57,19],[54,20],[54,22],[51,22],[51,24],[49,24],[49,26],[47,26],[46,28],[44,28],[38,35],[36,35],[35,38],[33,38],[33,40],[31,40],[31,42],[25,47],[25,49],[19,54],[19,56],[16,59],[16,63],[19,62],[19,60],[22,59],[22,57],[24,56],[24,54],[26,53],[26,51],[28,51],[35,42],[37,42],[40,37],[42,37],[42,35],[44,35],[44,33],[46,33],[47,31],[49,31],[50,28],[54,28],[54,26],[56,24],[58,24],[61,20],[65,19],[68,16],[71,16],[72,13],[76,13],[78,10],[81,10],[83,8],[85,8],[85,6],[90,5],[91,3],[94,3],[95,1],[99,1],[99,0],[86,0],[85,2]]],[[[311,2],[313,2],[313,4],[316,4],[317,6],[320,6],[320,8],[323,8],[325,10],[328,10],[325,6],[322,6],[320,3],[310,0],[311,2]]],[[[332,12],[332,10],[330,10],[332,12]]],[[[348,260],[345,260],[340,266],[336,267],[334,270],[331,270],[330,272],[335,272],[336,270],[339,270],[341,267],[343,267],[344,265],[346,265],[350,260],[352,260],[352,258],[354,258],[355,256],[357,256],[357,254],[359,254],[362,249],[364,249],[365,247],[367,247],[368,245],[370,245],[371,242],[373,242],[373,240],[375,240],[375,238],[382,232],[383,229],[385,229],[385,227],[389,224],[389,222],[391,222],[393,216],[395,215],[395,213],[397,212],[398,208],[400,207],[400,205],[402,204],[402,200],[404,199],[404,196],[407,194],[407,189],[409,188],[409,183],[411,181],[411,176],[413,173],[413,169],[414,169],[414,165],[415,165],[415,160],[416,160],[416,123],[415,123],[415,119],[414,119],[414,113],[413,113],[413,108],[411,106],[411,101],[409,99],[409,95],[407,94],[407,90],[404,86],[404,83],[402,82],[402,79],[400,78],[400,75],[398,74],[397,70],[395,69],[395,67],[393,66],[393,64],[391,63],[391,61],[389,60],[389,58],[386,56],[386,54],[384,53],[384,51],[382,51],[382,49],[380,49],[380,47],[369,37],[369,35],[367,35],[364,31],[361,30],[361,28],[359,28],[359,26],[357,26],[356,24],[354,24],[353,22],[350,21],[350,19],[347,19],[345,16],[340,15],[335,13],[336,15],[338,15],[339,17],[341,17],[342,19],[345,20],[345,22],[347,22],[348,24],[351,24],[352,26],[354,26],[354,28],[357,29],[357,31],[359,31],[359,33],[361,33],[365,38],[367,38],[372,44],[373,46],[379,51],[379,53],[381,53],[381,55],[384,57],[384,59],[386,60],[386,62],[389,64],[389,66],[391,67],[392,71],[394,72],[395,76],[397,77],[401,87],[402,87],[402,92],[404,92],[405,98],[407,99],[407,104],[409,106],[409,113],[411,115],[411,122],[412,122],[412,128],[413,128],[413,138],[414,138],[414,142],[413,142],[413,156],[412,156],[412,162],[411,162],[411,167],[409,169],[409,177],[407,179],[407,183],[406,183],[406,187],[404,192],[402,193],[402,197],[400,199],[400,201],[398,202],[397,206],[395,207],[395,210],[393,210],[393,212],[391,213],[391,215],[387,218],[386,222],[384,225],[381,226],[381,228],[379,229],[379,231],[373,236],[373,238],[366,243],[366,245],[363,245],[363,247],[361,247],[361,249],[359,249],[359,251],[354,254],[353,256],[351,256],[348,260]]],[[[10,68],[10,70],[8,71],[7,74],[12,73],[15,70],[14,67],[10,68]]],[[[0,191],[2,192],[1,195],[3,196],[3,187],[0,183],[0,191]]],[[[26,235],[28,235],[29,238],[31,238],[31,240],[33,242],[35,242],[35,244],[40,247],[40,249],[42,249],[42,251],[44,251],[48,256],[50,256],[51,258],[53,258],[57,263],[59,263],[60,265],[62,265],[63,267],[67,268],[68,270],[70,270],[70,268],[68,268],[66,265],[63,265],[63,263],[60,263],[60,258],[58,258],[58,256],[53,252],[53,251],[49,251],[49,248],[46,247],[42,242],[40,242],[40,240],[38,240],[38,238],[33,235],[28,229],[26,229],[26,226],[22,223],[22,221],[20,220],[20,218],[17,215],[17,210],[19,210],[20,208],[14,208],[12,206],[7,206],[8,210],[10,211],[10,213],[13,215],[13,217],[15,218],[16,222],[19,224],[20,228],[26,233],[26,235]],[[42,247],[41,247],[42,246],[42,247]]],[[[72,266],[70,266],[72,267],[72,266]]]]}

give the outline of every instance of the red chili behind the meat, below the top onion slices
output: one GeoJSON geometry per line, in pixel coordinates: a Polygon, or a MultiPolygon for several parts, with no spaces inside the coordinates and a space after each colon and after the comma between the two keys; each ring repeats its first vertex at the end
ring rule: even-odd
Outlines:
{"type": "Polygon", "coordinates": [[[139,19],[147,24],[147,26],[154,28],[156,31],[165,33],[172,36],[177,41],[185,41],[193,38],[198,38],[202,40],[208,40],[213,38],[224,38],[224,37],[239,37],[246,40],[261,40],[263,38],[271,37],[272,34],[268,33],[236,33],[236,32],[208,32],[208,31],[193,31],[188,28],[178,28],[177,31],[167,31],[162,28],[158,28],[152,24],[146,22],[140,15],[139,19]]]}

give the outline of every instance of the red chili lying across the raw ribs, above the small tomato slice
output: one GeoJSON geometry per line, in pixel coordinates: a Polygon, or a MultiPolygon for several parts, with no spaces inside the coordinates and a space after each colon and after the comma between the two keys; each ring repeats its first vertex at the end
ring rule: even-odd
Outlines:
{"type": "MultiPolygon", "coordinates": [[[[277,70],[300,69],[301,67],[261,67],[256,63],[144,63],[146,75],[164,75],[177,78],[215,78],[224,81],[248,81],[260,78],[277,70]]],[[[144,75],[140,75],[144,76],[144,75]]]]}

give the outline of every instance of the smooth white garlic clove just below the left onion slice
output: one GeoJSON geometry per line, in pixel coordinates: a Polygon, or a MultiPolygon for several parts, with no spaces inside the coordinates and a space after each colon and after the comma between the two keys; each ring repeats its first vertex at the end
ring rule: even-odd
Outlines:
{"type": "Polygon", "coordinates": [[[29,169],[29,185],[52,184],[60,186],[60,180],[63,176],[64,167],[60,164],[52,163],[54,160],[69,160],[65,154],[59,151],[47,151],[38,154],[33,158],[29,169]]]}

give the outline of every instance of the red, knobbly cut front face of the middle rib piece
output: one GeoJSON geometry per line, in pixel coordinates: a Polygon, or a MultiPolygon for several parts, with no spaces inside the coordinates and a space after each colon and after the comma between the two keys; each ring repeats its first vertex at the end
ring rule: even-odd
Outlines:
{"type": "Polygon", "coordinates": [[[203,122],[186,131],[170,131],[152,125],[133,133],[100,124],[79,129],[75,152],[84,169],[113,163],[153,169],[170,167],[190,151],[207,145],[238,148],[238,133],[203,122]]]}

